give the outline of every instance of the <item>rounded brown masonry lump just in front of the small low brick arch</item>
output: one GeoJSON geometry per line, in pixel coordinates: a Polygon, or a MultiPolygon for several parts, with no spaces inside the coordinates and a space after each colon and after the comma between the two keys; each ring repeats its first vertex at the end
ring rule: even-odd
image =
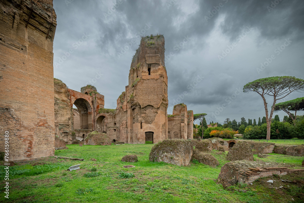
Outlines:
{"type": "Polygon", "coordinates": [[[234,144],[231,150],[227,154],[227,160],[237,161],[237,160],[249,160],[253,161],[253,146],[244,141],[239,141],[234,144]]]}

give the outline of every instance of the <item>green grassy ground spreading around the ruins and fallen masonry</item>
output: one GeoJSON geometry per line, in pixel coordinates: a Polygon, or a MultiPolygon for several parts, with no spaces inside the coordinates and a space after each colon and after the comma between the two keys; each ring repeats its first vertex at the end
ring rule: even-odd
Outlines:
{"type": "MultiPolygon", "coordinates": [[[[284,179],[295,182],[288,182],[290,187],[284,186],[285,189],[268,188],[266,181],[269,177],[259,179],[253,185],[240,184],[224,189],[214,180],[223,164],[228,162],[225,158],[227,152],[210,152],[219,160],[218,167],[201,163],[179,167],[149,162],[152,146],[153,144],[68,145],[68,150],[56,150],[55,155],[85,160],[45,157],[33,162],[17,163],[9,171],[9,199],[4,198],[4,181],[1,182],[0,202],[303,202],[302,172],[284,176],[284,179]],[[121,158],[127,154],[136,154],[139,162],[121,162],[121,158]],[[93,158],[96,161],[92,161],[93,158]],[[81,169],[66,171],[76,164],[81,164],[81,169]],[[136,167],[123,168],[129,164],[136,167]]],[[[263,159],[254,155],[254,158],[301,168],[303,157],[271,155],[273,156],[263,159]]],[[[4,171],[2,165],[2,177],[4,171]]],[[[279,177],[272,177],[274,179],[278,179],[275,183],[279,183],[279,177]]]]}

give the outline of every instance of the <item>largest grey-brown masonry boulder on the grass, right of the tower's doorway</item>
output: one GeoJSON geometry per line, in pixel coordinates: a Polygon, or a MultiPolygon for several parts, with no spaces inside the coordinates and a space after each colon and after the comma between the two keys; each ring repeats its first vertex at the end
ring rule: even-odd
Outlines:
{"type": "Polygon", "coordinates": [[[191,160],[193,146],[190,140],[167,139],[152,147],[149,160],[187,166],[191,160]]]}

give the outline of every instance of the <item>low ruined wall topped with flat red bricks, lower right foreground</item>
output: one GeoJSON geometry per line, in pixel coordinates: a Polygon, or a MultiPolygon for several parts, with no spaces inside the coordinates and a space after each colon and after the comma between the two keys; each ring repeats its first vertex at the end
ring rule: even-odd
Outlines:
{"type": "Polygon", "coordinates": [[[247,160],[232,161],[226,163],[219,173],[218,183],[223,187],[229,187],[238,182],[250,184],[260,177],[268,177],[273,174],[286,175],[304,169],[288,169],[288,167],[266,167],[265,163],[257,163],[247,160]]]}

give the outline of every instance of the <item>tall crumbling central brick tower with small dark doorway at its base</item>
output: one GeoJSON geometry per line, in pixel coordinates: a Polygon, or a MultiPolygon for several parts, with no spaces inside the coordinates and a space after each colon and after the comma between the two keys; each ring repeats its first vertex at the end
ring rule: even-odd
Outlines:
{"type": "Polygon", "coordinates": [[[164,36],[143,37],[131,63],[127,99],[127,143],[167,139],[168,77],[164,36]]]}

